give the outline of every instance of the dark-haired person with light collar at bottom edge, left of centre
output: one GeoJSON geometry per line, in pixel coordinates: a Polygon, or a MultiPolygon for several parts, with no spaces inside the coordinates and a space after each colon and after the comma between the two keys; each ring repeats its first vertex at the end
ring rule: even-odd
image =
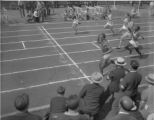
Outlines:
{"type": "Polygon", "coordinates": [[[70,95],[66,103],[68,111],[50,114],[49,120],[89,120],[87,115],[81,115],[78,112],[79,97],[77,95],[70,95]]]}

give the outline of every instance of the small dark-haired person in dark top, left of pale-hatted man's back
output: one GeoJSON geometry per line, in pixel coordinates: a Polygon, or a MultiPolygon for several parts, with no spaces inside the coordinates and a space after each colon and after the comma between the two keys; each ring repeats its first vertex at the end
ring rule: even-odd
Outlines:
{"type": "Polygon", "coordinates": [[[58,95],[51,99],[50,101],[50,112],[51,113],[63,113],[66,109],[66,97],[65,88],[63,86],[59,86],[57,89],[58,95]]]}

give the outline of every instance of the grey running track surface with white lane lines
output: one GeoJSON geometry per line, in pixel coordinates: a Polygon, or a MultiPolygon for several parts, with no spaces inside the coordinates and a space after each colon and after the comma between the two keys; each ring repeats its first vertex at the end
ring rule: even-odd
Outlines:
{"type": "MultiPolygon", "coordinates": [[[[144,76],[154,72],[154,19],[140,18],[134,22],[141,26],[145,37],[140,40],[145,57],[140,59],[136,52],[129,55],[128,51],[116,49],[112,57],[125,57],[128,68],[131,59],[139,60],[144,85],[144,76]]],[[[101,51],[96,45],[97,35],[104,31],[113,48],[119,44],[120,36],[112,36],[109,30],[103,29],[104,24],[105,21],[82,22],[78,35],[74,35],[71,22],[2,28],[2,116],[15,112],[13,101],[23,92],[30,95],[31,110],[47,108],[59,85],[66,86],[66,95],[78,93],[85,83],[90,82],[89,76],[99,71],[101,51]]],[[[114,24],[117,31],[122,21],[115,19],[114,24]]]]}

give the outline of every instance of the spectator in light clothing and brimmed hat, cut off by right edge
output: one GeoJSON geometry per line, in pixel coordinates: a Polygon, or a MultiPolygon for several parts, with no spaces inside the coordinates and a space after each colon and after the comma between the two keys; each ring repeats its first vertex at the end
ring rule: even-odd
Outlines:
{"type": "Polygon", "coordinates": [[[148,87],[141,93],[140,110],[144,117],[154,113],[154,74],[145,77],[148,87]]]}

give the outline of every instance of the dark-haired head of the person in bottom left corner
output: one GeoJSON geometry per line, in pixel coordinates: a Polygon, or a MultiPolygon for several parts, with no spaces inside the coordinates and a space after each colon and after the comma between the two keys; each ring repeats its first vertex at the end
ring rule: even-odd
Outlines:
{"type": "Polygon", "coordinates": [[[26,93],[18,95],[15,99],[14,106],[19,111],[27,111],[29,106],[29,96],[26,93]]]}

